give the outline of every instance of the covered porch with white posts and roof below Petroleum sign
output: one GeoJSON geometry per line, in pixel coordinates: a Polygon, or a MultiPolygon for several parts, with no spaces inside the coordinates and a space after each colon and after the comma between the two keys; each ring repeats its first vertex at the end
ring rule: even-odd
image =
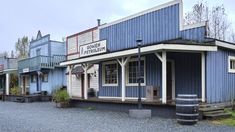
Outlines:
{"type": "MultiPolygon", "coordinates": [[[[177,94],[197,94],[201,101],[205,102],[205,53],[216,50],[215,45],[208,44],[164,43],[142,47],[143,101],[171,104],[177,94]],[[150,93],[148,93],[148,89],[150,93]]],[[[126,49],[61,63],[61,65],[69,66],[68,92],[71,92],[71,67],[82,64],[85,80],[84,100],[89,100],[87,70],[91,65],[99,64],[97,100],[137,102],[138,89],[135,78],[137,53],[137,48],[126,49]],[[109,74],[106,69],[114,74],[109,74]]]]}

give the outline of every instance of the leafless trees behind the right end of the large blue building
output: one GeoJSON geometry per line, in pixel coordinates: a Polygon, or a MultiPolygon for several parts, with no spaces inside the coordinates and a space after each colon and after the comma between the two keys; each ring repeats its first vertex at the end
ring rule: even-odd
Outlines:
{"type": "Polygon", "coordinates": [[[230,22],[223,5],[215,6],[211,10],[205,1],[199,1],[191,12],[186,13],[185,23],[194,24],[207,22],[207,36],[220,40],[228,40],[230,22]]]}

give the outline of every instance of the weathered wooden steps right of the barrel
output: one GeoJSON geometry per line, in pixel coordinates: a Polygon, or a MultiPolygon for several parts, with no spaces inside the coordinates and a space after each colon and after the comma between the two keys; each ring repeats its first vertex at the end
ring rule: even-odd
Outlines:
{"type": "Polygon", "coordinates": [[[231,117],[231,113],[226,113],[223,106],[201,104],[199,107],[200,119],[221,119],[231,117]]]}

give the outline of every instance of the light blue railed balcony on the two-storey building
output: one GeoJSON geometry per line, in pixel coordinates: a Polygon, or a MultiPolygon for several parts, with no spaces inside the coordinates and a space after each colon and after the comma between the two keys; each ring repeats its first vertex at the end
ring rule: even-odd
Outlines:
{"type": "Polygon", "coordinates": [[[18,62],[19,73],[27,73],[33,71],[40,71],[41,69],[54,69],[59,67],[60,62],[65,61],[66,56],[37,56],[33,58],[27,58],[18,62]]]}

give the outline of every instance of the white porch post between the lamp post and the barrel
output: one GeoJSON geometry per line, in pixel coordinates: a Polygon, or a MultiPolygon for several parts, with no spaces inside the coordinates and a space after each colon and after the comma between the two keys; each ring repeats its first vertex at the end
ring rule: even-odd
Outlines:
{"type": "Polygon", "coordinates": [[[166,89],[166,66],[167,66],[167,54],[166,51],[162,51],[162,103],[167,103],[167,89],[166,89]]]}

